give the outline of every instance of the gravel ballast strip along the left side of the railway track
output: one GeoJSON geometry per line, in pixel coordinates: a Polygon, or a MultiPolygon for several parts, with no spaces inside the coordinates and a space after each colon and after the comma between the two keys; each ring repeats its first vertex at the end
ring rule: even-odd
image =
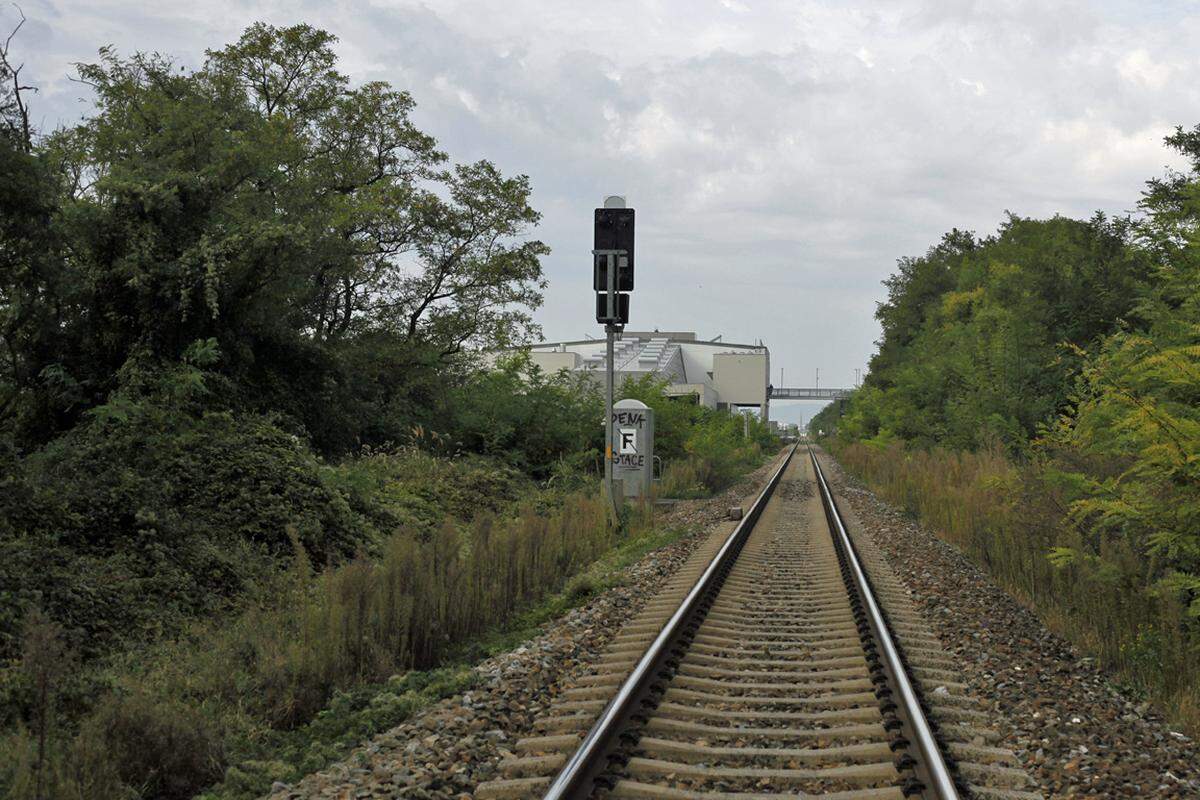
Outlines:
{"type": "Polygon", "coordinates": [[[480,663],[479,685],[448,698],[294,786],[277,783],[271,800],[469,800],[497,777],[512,745],[529,735],[571,678],[604,650],[620,625],[688,559],[730,506],[756,497],[775,461],[710,500],[676,504],[664,522],[689,534],[625,571],[613,587],[514,650],[480,663]]]}

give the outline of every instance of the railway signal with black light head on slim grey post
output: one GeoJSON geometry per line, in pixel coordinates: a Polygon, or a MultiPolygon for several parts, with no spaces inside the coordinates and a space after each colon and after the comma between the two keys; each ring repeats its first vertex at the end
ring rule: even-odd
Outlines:
{"type": "MultiPolygon", "coordinates": [[[[606,197],[595,210],[592,249],[592,288],[596,293],[596,321],[605,326],[605,492],[613,519],[620,503],[613,491],[613,342],[629,324],[629,291],[634,289],[634,210],[625,198],[606,197]]],[[[624,492],[622,492],[624,494],[624,492]]]]}

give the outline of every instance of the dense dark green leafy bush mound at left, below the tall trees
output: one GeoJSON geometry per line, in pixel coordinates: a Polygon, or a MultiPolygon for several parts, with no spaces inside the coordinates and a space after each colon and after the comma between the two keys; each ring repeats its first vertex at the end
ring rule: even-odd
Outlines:
{"type": "Polygon", "coordinates": [[[223,607],[288,553],[364,529],[306,444],[270,417],[120,396],[0,479],[0,652],[40,606],[85,655],[223,607]]]}

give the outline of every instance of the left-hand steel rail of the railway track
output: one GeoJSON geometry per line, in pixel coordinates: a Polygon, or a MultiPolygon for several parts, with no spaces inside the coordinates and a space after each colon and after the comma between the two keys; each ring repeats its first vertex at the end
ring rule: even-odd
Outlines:
{"type": "Polygon", "coordinates": [[[730,566],[733,559],[737,558],[740,546],[750,535],[755,522],[762,516],[762,510],[767,506],[767,501],[779,485],[779,480],[791,463],[797,447],[799,447],[799,443],[792,445],[792,449],[787,451],[784,463],[770,476],[767,486],[763,487],[754,505],[750,506],[750,511],[742,518],[737,528],[733,529],[733,533],[726,537],[708,567],[701,573],[691,590],[679,603],[679,608],[676,609],[671,619],[662,626],[662,630],[655,637],[654,642],[650,643],[650,646],[634,667],[629,678],[617,690],[617,694],[600,712],[599,718],[592,726],[592,729],[588,730],[583,741],[580,742],[580,746],[571,754],[570,759],[563,765],[558,775],[554,776],[550,788],[546,789],[546,794],[542,795],[542,800],[578,800],[592,794],[592,782],[607,768],[607,764],[599,764],[598,760],[608,752],[613,738],[618,736],[624,729],[625,721],[636,712],[638,700],[646,696],[646,692],[658,678],[661,666],[671,655],[672,645],[679,639],[688,621],[700,608],[704,595],[720,582],[722,570],[730,566]]]}

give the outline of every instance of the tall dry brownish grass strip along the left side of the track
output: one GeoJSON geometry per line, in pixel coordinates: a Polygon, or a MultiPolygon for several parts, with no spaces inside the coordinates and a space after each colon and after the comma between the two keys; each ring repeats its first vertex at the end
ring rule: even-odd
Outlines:
{"type": "Polygon", "coordinates": [[[622,531],[601,498],[578,493],[427,536],[398,531],[378,558],[319,573],[296,542],[287,575],[234,619],[114,662],[114,691],[74,732],[0,739],[0,794],[74,800],[102,786],[114,798],[190,798],[220,778],[228,742],[306,723],[335,692],[437,666],[652,517],[634,509],[622,531]]]}

